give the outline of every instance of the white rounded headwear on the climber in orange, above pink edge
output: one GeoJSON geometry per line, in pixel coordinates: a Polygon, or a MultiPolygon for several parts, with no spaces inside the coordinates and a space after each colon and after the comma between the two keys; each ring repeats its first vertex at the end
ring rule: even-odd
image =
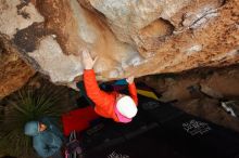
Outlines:
{"type": "Polygon", "coordinates": [[[131,97],[125,95],[122,98],[120,98],[116,103],[117,110],[127,118],[134,118],[138,111],[138,108],[133,101],[131,97]]]}

